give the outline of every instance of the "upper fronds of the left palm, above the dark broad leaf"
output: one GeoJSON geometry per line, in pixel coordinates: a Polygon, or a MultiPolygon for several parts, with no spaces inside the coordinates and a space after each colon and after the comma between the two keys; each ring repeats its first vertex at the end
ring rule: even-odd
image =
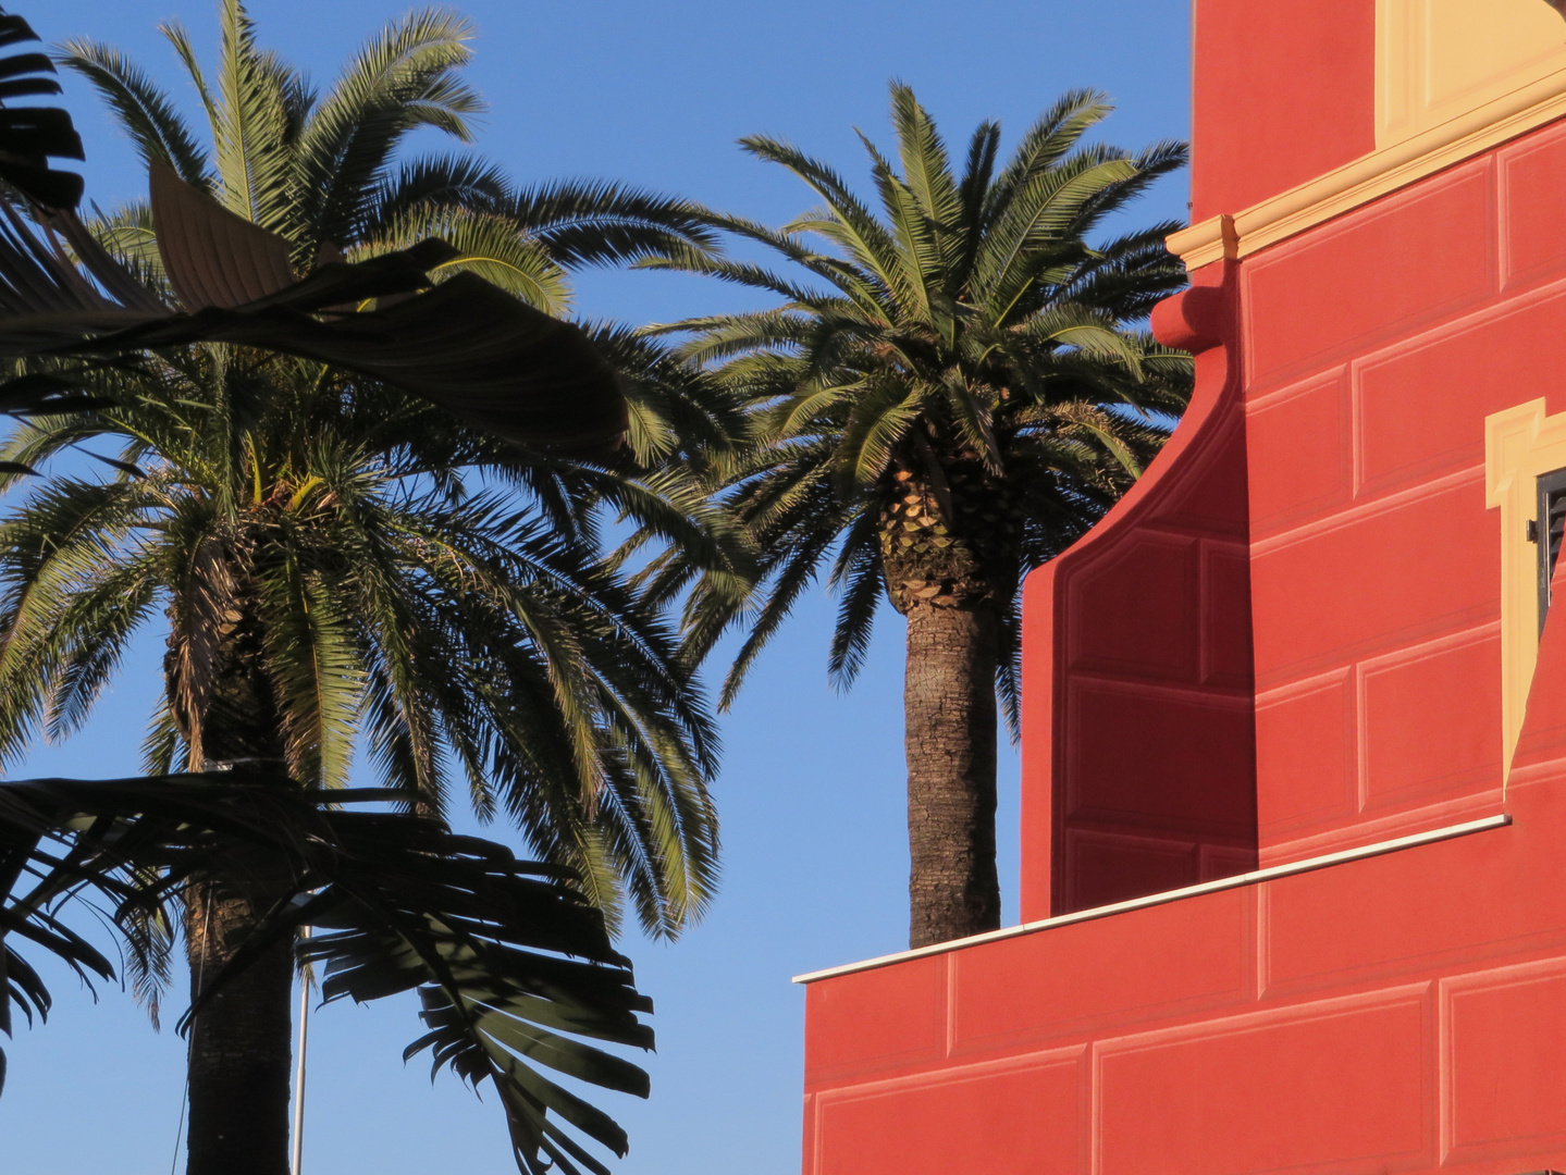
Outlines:
{"type": "MultiPolygon", "coordinates": [[[[161,28],[200,99],[210,147],[168,92],[111,45],[72,41],[60,61],[99,89],[147,163],[169,164],[229,211],[283,236],[296,269],[440,236],[459,250],[445,275],[476,272],[561,313],[570,304],[567,268],[708,239],[684,200],[592,181],[517,191],[474,155],[401,160],[398,149],[420,128],[471,142],[484,110],[460,77],[473,27],[451,11],[421,9],[388,25],[324,95],[260,49],[241,0],[221,0],[219,17],[211,77],[183,28],[161,28]]],[[[122,249],[157,266],[146,205],[121,210],[111,227],[122,249]]]]}

